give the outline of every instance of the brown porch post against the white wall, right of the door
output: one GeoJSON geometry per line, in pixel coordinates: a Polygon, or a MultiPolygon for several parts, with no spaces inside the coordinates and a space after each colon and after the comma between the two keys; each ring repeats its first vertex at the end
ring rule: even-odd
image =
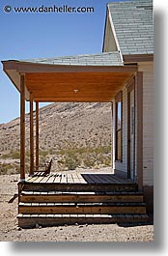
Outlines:
{"type": "Polygon", "coordinates": [[[143,189],[143,72],[138,71],[136,77],[137,90],[137,175],[138,188],[143,189]]]}

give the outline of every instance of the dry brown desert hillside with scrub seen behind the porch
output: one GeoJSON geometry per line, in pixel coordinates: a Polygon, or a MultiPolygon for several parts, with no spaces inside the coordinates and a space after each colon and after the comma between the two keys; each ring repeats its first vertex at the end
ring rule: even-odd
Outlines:
{"type": "MultiPolygon", "coordinates": [[[[111,164],[111,104],[52,103],[40,109],[41,163],[52,171],[100,168],[111,164]]],[[[26,168],[29,169],[29,114],[26,115],[26,168]]],[[[19,170],[19,118],[0,125],[0,174],[19,170]]]]}

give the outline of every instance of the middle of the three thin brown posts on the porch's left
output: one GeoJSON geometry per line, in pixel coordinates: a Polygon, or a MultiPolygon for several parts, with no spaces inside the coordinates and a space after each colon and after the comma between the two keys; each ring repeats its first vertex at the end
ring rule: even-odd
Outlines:
{"type": "Polygon", "coordinates": [[[34,128],[33,128],[33,97],[30,94],[30,171],[29,175],[34,174],[34,128]]]}

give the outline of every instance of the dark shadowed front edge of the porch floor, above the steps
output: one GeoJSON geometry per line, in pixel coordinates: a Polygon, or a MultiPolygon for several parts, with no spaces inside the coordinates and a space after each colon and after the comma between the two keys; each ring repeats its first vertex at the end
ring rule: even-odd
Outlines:
{"type": "Polygon", "coordinates": [[[136,184],[42,184],[42,183],[28,183],[24,182],[22,184],[22,189],[25,191],[105,191],[105,192],[114,192],[114,191],[137,191],[138,186],[136,184]]]}

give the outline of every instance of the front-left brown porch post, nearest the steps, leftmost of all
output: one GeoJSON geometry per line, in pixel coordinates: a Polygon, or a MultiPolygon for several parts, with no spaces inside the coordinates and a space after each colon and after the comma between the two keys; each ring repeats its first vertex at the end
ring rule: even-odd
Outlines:
{"type": "Polygon", "coordinates": [[[25,85],[20,75],[20,181],[25,180],[25,85]]]}

